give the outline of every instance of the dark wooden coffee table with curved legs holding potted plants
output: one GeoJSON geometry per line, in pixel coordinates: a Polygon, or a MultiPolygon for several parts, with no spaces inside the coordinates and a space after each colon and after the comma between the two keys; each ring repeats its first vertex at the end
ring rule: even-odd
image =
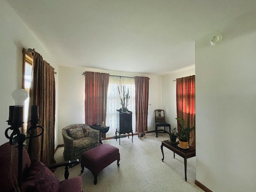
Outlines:
{"type": "Polygon", "coordinates": [[[176,144],[172,144],[169,140],[162,141],[161,151],[163,154],[162,161],[164,161],[164,151],[163,146],[173,151],[173,158],[175,158],[175,153],[184,158],[184,167],[185,167],[185,181],[187,181],[187,159],[190,157],[196,156],[196,149],[194,147],[189,146],[188,149],[182,149],[178,146],[178,142],[176,144]]]}

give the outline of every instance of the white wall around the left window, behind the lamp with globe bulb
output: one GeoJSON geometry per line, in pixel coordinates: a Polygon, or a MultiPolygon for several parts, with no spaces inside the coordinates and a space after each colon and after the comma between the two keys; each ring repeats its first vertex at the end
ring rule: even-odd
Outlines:
{"type": "MultiPolygon", "coordinates": [[[[14,105],[12,91],[22,88],[22,48],[35,48],[44,60],[54,65],[48,54],[33,34],[28,30],[6,1],[0,1],[0,145],[7,142],[4,131],[8,128],[6,120],[9,116],[9,106],[14,105]]],[[[56,97],[58,96],[58,74],[56,78],[56,97]]]]}

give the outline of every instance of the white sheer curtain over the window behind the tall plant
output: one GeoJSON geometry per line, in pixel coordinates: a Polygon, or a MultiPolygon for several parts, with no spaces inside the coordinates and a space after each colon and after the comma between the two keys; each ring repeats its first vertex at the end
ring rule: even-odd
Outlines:
{"type": "Polygon", "coordinates": [[[135,84],[134,78],[110,76],[108,83],[107,95],[107,112],[106,112],[106,125],[109,131],[107,137],[113,137],[116,133],[116,110],[121,108],[120,98],[118,94],[118,86],[125,85],[126,89],[129,88],[130,100],[128,110],[132,111],[132,130],[135,133],[135,84]]]}

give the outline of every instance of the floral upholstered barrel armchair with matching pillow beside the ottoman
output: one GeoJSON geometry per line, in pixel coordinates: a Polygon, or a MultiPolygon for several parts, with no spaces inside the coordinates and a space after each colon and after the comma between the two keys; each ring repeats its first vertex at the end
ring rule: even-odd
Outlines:
{"type": "Polygon", "coordinates": [[[100,131],[86,124],[72,124],[62,129],[64,160],[81,159],[81,154],[100,145],[100,131]]]}

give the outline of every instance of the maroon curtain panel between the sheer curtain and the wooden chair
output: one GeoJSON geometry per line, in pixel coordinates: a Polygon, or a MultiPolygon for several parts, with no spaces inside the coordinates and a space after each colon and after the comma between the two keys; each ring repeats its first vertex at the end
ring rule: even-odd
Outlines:
{"type": "Polygon", "coordinates": [[[136,132],[148,130],[148,77],[134,77],[136,132]]]}

